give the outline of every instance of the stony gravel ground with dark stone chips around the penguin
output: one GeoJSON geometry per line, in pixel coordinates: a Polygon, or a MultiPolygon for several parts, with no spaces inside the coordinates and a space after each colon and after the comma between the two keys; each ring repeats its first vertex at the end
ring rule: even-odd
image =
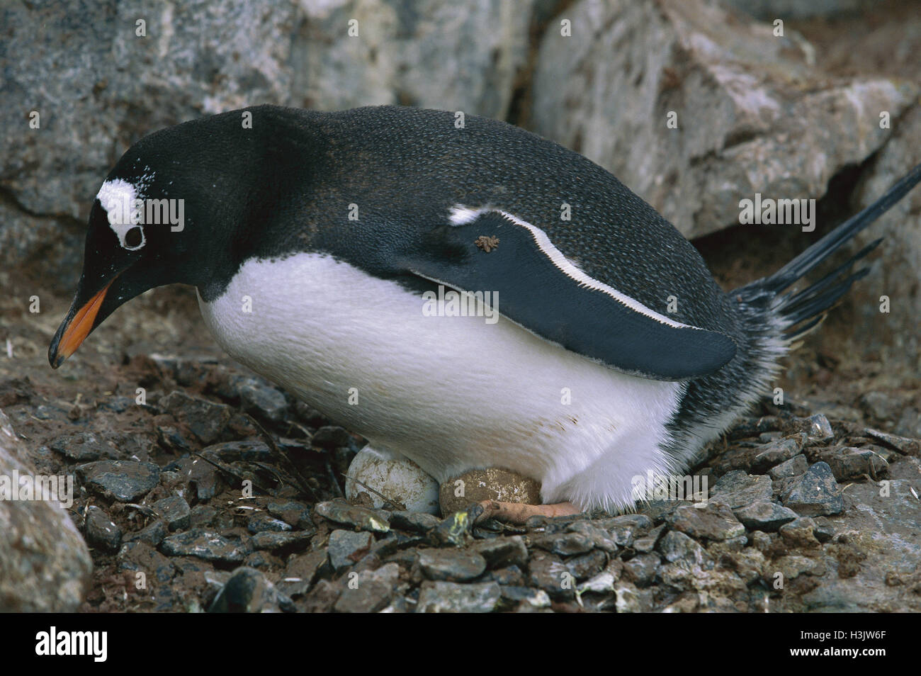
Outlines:
{"type": "Polygon", "coordinates": [[[363,440],[220,355],[188,290],[55,372],[66,301],[29,314],[2,281],[0,408],[39,472],[76,476],[83,612],[921,610],[917,388],[879,365],[826,359],[802,402],[765,401],[691,472],[705,504],[474,525],[347,503],[363,440]]]}

